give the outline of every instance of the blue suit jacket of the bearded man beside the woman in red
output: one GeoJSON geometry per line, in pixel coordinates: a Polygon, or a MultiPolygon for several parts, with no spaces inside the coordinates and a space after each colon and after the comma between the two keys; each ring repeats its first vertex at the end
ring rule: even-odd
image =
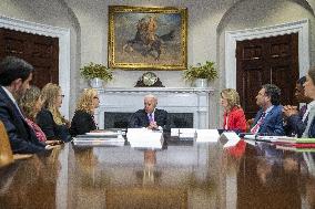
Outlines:
{"type": "MultiPolygon", "coordinates": [[[[270,136],[284,136],[283,121],[282,121],[282,105],[275,105],[264,118],[263,124],[260,127],[258,134],[265,134],[270,136]]],[[[253,126],[257,123],[263,114],[263,109],[260,109],[256,114],[253,126]]]]}

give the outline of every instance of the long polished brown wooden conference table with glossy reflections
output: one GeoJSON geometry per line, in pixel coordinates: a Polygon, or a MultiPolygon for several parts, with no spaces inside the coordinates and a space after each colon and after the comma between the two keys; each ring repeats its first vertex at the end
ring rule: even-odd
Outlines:
{"type": "Polygon", "coordinates": [[[74,146],[0,168],[0,208],[314,208],[313,153],[165,137],[160,149],[74,146]]]}

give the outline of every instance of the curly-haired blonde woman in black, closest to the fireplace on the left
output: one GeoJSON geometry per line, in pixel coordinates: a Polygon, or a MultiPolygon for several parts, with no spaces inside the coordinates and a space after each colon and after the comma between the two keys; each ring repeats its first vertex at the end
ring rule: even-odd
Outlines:
{"type": "Polygon", "coordinates": [[[70,133],[72,136],[96,129],[94,109],[99,107],[99,104],[100,100],[96,90],[87,88],[82,92],[71,122],[70,133]]]}

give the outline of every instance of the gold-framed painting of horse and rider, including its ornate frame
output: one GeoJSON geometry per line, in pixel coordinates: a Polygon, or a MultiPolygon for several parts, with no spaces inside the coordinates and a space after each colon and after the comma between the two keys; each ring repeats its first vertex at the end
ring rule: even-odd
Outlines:
{"type": "Polygon", "coordinates": [[[187,9],[109,7],[109,66],[187,67],[187,9]]]}

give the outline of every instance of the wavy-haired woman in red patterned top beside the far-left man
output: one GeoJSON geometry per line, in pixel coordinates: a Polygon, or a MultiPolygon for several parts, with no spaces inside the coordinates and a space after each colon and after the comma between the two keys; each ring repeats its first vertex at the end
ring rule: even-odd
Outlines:
{"type": "Polygon", "coordinates": [[[40,88],[31,86],[26,91],[26,94],[19,100],[19,106],[26,116],[26,121],[30,127],[33,128],[37,138],[40,142],[45,142],[47,137],[42,129],[35,124],[37,114],[42,107],[42,100],[40,97],[40,88]]]}

